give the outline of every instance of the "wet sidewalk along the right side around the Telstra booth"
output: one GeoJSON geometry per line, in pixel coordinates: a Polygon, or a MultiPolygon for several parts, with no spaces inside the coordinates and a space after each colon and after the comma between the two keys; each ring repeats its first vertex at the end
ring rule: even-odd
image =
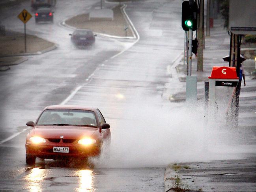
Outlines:
{"type": "MultiPolygon", "coordinates": [[[[192,56],[192,75],[198,78],[197,98],[201,102],[204,99],[204,81],[208,81],[212,67],[228,66],[228,62],[224,62],[222,57],[229,54],[230,36],[223,29],[223,23],[222,19],[215,19],[214,28],[211,28],[211,36],[205,39],[203,72],[196,71],[197,60],[194,55],[192,56]]],[[[246,50],[243,48],[241,53],[243,54],[246,50]]],[[[250,53],[253,54],[254,51],[250,51],[250,53]]],[[[251,55],[251,57],[253,56],[251,55]]],[[[183,65],[183,60],[175,64],[182,91],[170,95],[169,99],[171,102],[183,102],[186,99],[187,65],[183,65]]],[[[178,164],[172,162],[166,167],[165,191],[256,191],[256,158],[254,153],[256,145],[256,79],[255,76],[251,75],[255,69],[255,61],[254,59],[247,59],[243,65],[246,71],[246,86],[244,87],[242,83],[239,97],[239,126],[232,131],[235,132],[237,138],[244,137],[243,143],[239,145],[240,150],[245,150],[243,146],[246,146],[249,151],[244,151],[245,155],[239,157],[244,157],[245,160],[178,162],[178,164]],[[248,155],[248,153],[250,154],[248,155]]],[[[233,150],[232,146],[230,150],[233,150]]],[[[213,154],[210,150],[205,152],[204,155],[213,154]]],[[[224,154],[220,153],[219,155],[221,158],[224,154]]]]}

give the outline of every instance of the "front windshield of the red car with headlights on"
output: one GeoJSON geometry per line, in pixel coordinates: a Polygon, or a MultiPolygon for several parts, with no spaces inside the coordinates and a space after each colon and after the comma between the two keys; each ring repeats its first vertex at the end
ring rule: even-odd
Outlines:
{"type": "Polygon", "coordinates": [[[47,109],[43,111],[37,125],[73,125],[97,127],[93,111],[76,109],[47,109]]]}

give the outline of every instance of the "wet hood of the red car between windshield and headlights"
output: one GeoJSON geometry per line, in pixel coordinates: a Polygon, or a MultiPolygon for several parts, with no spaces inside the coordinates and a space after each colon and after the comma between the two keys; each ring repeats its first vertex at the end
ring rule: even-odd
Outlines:
{"type": "Polygon", "coordinates": [[[82,137],[91,137],[98,129],[88,127],[67,127],[67,126],[36,126],[31,130],[31,134],[43,138],[78,139],[82,137]]]}

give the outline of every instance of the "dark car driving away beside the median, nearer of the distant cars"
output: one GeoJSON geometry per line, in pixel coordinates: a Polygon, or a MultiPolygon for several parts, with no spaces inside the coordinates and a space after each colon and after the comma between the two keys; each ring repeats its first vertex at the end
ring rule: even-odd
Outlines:
{"type": "Polygon", "coordinates": [[[76,46],[93,45],[95,43],[95,34],[88,29],[77,29],[71,35],[71,42],[76,46]]]}

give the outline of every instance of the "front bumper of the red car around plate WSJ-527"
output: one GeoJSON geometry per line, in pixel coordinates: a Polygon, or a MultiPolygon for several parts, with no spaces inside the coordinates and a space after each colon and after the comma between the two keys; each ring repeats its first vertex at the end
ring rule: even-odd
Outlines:
{"type": "MultiPolygon", "coordinates": [[[[69,153],[53,152],[53,147],[58,145],[31,145],[26,144],[26,154],[35,155],[39,158],[58,159],[63,157],[94,157],[100,155],[100,147],[92,146],[65,146],[69,147],[69,153]]],[[[64,146],[59,146],[64,147],[64,146]]]]}

